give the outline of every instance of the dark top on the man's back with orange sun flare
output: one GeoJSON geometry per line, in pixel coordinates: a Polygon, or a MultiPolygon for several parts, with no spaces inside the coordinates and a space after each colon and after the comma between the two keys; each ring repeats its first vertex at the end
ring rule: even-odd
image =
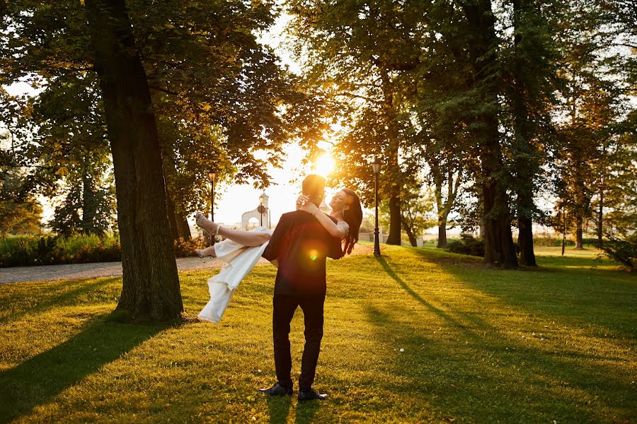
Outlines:
{"type": "Polygon", "coordinates": [[[294,211],[281,216],[262,256],[279,261],[275,295],[325,295],[326,258],[339,259],[343,250],[314,216],[294,211]]]}

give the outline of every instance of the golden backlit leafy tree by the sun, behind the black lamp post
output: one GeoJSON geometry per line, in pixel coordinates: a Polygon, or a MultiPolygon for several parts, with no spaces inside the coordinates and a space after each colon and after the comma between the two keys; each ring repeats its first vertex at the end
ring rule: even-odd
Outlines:
{"type": "Polygon", "coordinates": [[[391,217],[387,243],[399,244],[406,176],[402,151],[408,147],[410,127],[403,99],[411,89],[401,81],[401,72],[418,61],[420,32],[415,25],[422,10],[391,0],[300,0],[288,5],[307,80],[340,104],[339,116],[345,118],[346,130],[334,148],[340,170],[336,178],[360,189],[369,201],[369,164],[381,160],[379,192],[388,199],[391,217]]]}

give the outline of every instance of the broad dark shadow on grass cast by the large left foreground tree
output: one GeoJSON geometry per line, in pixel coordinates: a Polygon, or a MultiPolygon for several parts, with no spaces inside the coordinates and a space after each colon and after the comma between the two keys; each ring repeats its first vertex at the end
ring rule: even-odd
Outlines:
{"type": "Polygon", "coordinates": [[[0,372],[0,422],[25,416],[36,406],[47,404],[166,328],[166,324],[111,322],[108,315],[92,319],[68,341],[0,372]]]}

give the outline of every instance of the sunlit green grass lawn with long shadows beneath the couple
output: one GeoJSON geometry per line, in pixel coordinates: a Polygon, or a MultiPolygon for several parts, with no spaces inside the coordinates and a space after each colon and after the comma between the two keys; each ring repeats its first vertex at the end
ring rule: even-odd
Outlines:
{"type": "MultiPolygon", "coordinates": [[[[328,264],[321,403],[256,392],[274,382],[272,266],[219,325],[110,321],[120,278],[1,285],[0,421],[636,422],[634,273],[594,250],[540,248],[538,270],[500,271],[383,248],[328,264]]],[[[190,317],[208,277],[181,274],[190,317]]],[[[298,310],[295,375],[302,322],[298,310]]]]}

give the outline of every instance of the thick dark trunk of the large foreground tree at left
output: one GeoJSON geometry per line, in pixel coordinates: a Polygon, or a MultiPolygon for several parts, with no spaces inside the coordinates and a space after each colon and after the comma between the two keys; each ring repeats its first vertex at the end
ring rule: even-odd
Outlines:
{"type": "Polygon", "coordinates": [[[166,187],[148,82],[124,0],[86,0],[113,153],[123,286],[118,310],[132,319],[183,311],[166,187]]]}

